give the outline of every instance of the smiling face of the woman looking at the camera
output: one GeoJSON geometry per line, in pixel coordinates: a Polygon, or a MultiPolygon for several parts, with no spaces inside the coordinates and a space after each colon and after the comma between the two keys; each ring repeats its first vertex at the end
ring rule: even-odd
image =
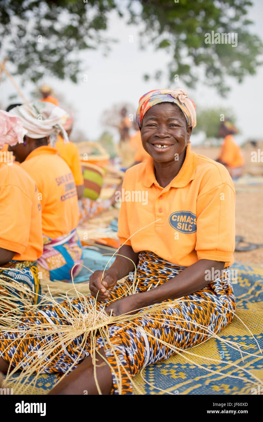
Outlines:
{"type": "Polygon", "coordinates": [[[186,148],[192,127],[182,110],[173,103],[160,103],[146,111],[141,125],[142,145],[158,162],[175,159],[186,148]]]}

